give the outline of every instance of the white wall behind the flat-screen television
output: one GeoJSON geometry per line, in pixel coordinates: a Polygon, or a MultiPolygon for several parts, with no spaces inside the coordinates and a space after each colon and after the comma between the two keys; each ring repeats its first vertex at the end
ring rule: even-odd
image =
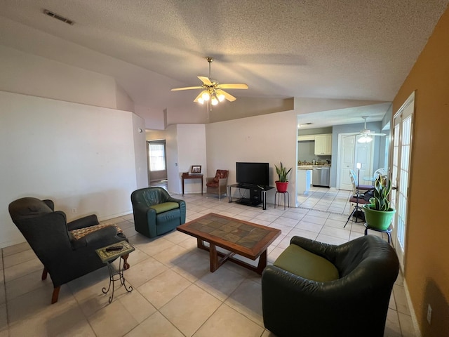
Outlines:
{"type": "MultiPolygon", "coordinates": [[[[297,112],[276,112],[262,116],[206,124],[208,176],[216,169],[229,170],[228,183],[236,183],[236,161],[268,162],[270,185],[278,179],[274,165],[282,161],[296,168],[297,112]]],[[[295,176],[290,173],[290,206],[296,204],[295,176]]],[[[274,203],[276,190],[267,192],[267,202],[274,203]]]]}

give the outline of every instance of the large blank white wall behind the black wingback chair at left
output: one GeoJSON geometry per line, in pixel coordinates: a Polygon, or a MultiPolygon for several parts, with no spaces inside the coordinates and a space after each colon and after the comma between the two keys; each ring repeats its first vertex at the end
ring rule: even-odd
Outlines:
{"type": "Polygon", "coordinates": [[[0,106],[1,247],[24,241],[8,213],[20,197],[53,199],[68,220],[131,212],[130,193],[145,180],[145,133],[135,128],[143,126],[140,117],[5,92],[0,106]]]}

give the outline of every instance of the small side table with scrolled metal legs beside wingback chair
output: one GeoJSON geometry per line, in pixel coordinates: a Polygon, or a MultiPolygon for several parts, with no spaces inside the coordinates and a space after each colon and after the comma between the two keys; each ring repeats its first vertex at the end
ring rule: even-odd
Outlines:
{"type": "Polygon", "coordinates": [[[135,251],[133,245],[126,241],[121,241],[117,242],[116,244],[109,244],[109,246],[96,249],[95,251],[97,252],[98,256],[100,256],[102,263],[106,263],[107,270],[109,270],[109,286],[107,287],[107,289],[106,287],[103,287],[103,289],[101,289],[103,293],[108,293],[109,289],[111,289],[112,284],[112,293],[111,296],[109,296],[109,303],[111,303],[114,299],[114,283],[116,281],[120,281],[121,285],[125,287],[128,293],[133,291],[132,286],[126,286],[125,277],[123,276],[123,270],[127,270],[129,268],[128,263],[126,263],[126,259],[128,258],[130,252],[135,251]],[[121,249],[110,250],[115,247],[121,247],[121,249]],[[120,258],[119,270],[117,271],[114,270],[114,267],[112,267],[111,265],[112,261],[116,258],[120,258]],[[124,261],[123,266],[121,265],[121,260],[124,261]]]}

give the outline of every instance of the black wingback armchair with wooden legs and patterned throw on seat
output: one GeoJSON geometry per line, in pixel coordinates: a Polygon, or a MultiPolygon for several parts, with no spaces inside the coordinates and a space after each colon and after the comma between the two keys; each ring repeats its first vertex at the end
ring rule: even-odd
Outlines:
{"type": "MultiPolygon", "coordinates": [[[[43,264],[42,279],[53,282],[51,303],[58,301],[60,286],[105,267],[95,249],[128,241],[115,225],[99,224],[91,215],[67,223],[65,213],[53,211],[51,200],[25,197],[9,204],[13,223],[43,264]]],[[[124,265],[128,256],[123,256],[124,265]]]]}

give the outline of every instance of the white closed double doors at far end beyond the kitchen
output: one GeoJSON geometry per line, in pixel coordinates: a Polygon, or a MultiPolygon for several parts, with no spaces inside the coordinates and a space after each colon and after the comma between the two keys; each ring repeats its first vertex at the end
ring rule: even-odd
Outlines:
{"type": "Polygon", "coordinates": [[[338,151],[340,152],[337,176],[340,190],[352,190],[349,171],[354,170],[358,175],[356,164],[361,163],[360,184],[363,184],[363,177],[370,176],[373,171],[373,148],[374,140],[371,143],[357,143],[358,135],[340,133],[338,136],[338,151]]]}

